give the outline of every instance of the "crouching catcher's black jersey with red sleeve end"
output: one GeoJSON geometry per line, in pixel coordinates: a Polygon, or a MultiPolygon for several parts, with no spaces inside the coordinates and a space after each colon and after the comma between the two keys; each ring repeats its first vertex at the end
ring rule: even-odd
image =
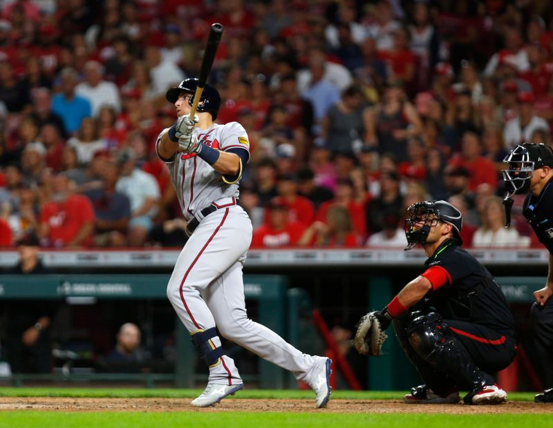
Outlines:
{"type": "Polygon", "coordinates": [[[421,275],[432,284],[428,304],[444,319],[471,322],[514,337],[514,318],[491,273],[458,240],[442,243],[421,275]]]}

